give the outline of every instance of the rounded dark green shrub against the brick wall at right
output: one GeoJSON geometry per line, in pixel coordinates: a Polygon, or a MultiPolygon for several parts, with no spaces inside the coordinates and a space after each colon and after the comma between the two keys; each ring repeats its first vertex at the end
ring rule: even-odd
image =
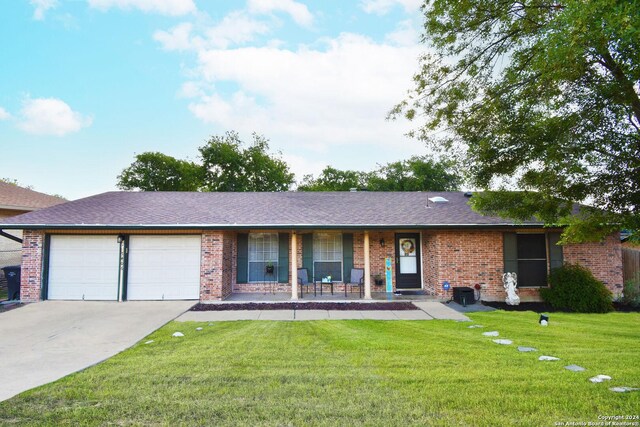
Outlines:
{"type": "Polygon", "coordinates": [[[551,271],[549,288],[541,289],[545,302],[557,310],[606,313],[613,310],[611,292],[580,265],[566,264],[551,271]]]}

